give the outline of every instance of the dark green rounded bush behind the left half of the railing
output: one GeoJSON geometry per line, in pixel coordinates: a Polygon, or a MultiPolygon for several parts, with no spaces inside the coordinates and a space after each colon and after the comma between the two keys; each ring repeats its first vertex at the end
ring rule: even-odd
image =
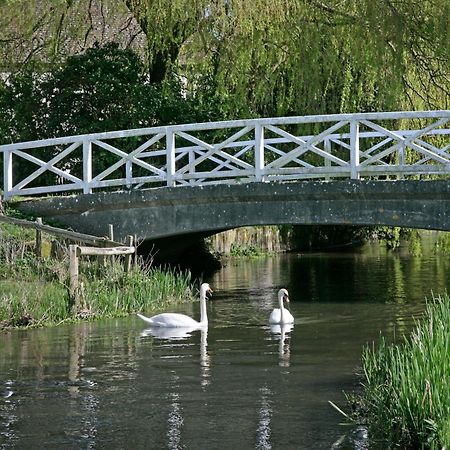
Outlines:
{"type": "Polygon", "coordinates": [[[69,57],[40,85],[40,137],[132,128],[143,84],[139,57],[115,43],[69,57]]]}

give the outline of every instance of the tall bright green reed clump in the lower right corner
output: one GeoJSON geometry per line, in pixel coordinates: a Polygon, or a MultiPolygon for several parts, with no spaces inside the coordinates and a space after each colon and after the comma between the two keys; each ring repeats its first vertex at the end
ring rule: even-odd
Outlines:
{"type": "Polygon", "coordinates": [[[450,300],[433,296],[411,336],[366,347],[357,400],[375,434],[391,448],[450,448],[450,300]]]}

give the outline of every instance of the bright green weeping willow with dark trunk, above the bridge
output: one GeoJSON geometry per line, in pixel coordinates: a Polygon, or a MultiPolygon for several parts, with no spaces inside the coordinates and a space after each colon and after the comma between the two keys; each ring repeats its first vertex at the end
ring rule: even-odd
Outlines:
{"type": "Polygon", "coordinates": [[[446,0],[125,0],[150,65],[256,114],[447,108],[446,0]]]}

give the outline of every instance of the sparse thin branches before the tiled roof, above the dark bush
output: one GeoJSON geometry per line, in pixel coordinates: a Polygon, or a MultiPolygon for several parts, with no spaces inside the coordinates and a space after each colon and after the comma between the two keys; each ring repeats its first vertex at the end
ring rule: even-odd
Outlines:
{"type": "Polygon", "coordinates": [[[0,72],[51,71],[68,56],[117,41],[145,46],[141,28],[115,0],[0,0],[0,72]]]}

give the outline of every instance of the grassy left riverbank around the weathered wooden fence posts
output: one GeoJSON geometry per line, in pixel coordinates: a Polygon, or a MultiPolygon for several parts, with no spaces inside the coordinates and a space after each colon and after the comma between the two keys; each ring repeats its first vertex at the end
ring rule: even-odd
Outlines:
{"type": "Polygon", "coordinates": [[[196,296],[188,272],[135,262],[125,273],[118,257],[108,258],[106,265],[86,258],[80,264],[81,308],[75,311],[67,248],[59,241],[48,247],[58,256],[36,258],[32,231],[0,226],[0,329],[148,312],[196,296]]]}

